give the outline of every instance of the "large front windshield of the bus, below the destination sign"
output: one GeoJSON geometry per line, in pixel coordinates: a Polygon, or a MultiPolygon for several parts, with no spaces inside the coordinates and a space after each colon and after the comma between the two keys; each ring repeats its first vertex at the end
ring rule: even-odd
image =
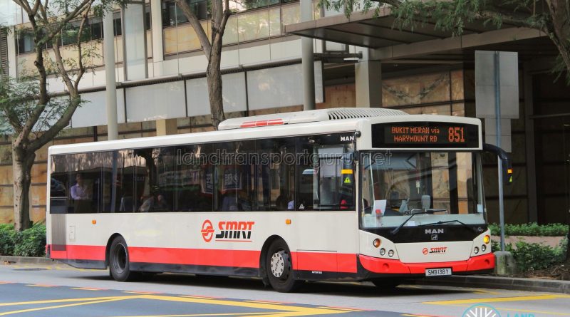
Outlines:
{"type": "Polygon", "coordinates": [[[484,224],[482,189],[472,152],[365,152],[361,225],[484,224]]]}

